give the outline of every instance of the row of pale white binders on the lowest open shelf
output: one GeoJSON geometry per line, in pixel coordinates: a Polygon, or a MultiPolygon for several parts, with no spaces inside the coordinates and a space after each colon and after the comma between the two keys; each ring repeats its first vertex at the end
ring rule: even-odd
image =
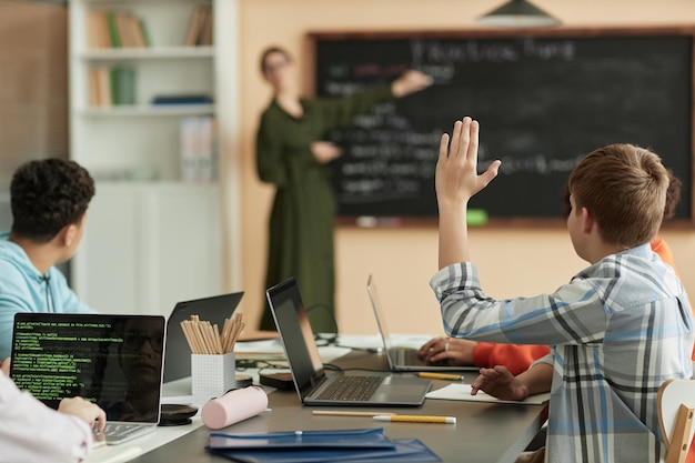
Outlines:
{"type": "Polygon", "coordinates": [[[180,123],[181,180],[211,182],[218,179],[218,131],[212,115],[187,117],[180,123]]]}

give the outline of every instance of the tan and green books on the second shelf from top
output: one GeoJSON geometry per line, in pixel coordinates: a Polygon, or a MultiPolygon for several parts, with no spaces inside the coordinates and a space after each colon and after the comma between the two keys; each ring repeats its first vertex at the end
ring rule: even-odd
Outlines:
{"type": "Polygon", "coordinates": [[[135,70],[98,66],[89,69],[89,102],[95,108],[135,104],[135,70]]]}

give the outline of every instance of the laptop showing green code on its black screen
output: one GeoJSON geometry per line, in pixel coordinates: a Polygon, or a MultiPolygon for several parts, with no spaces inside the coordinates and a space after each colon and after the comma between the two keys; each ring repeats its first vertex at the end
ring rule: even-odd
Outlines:
{"type": "Polygon", "coordinates": [[[155,430],[164,316],[17,313],[10,378],[46,405],[80,395],[107,412],[107,444],[155,430]]]}

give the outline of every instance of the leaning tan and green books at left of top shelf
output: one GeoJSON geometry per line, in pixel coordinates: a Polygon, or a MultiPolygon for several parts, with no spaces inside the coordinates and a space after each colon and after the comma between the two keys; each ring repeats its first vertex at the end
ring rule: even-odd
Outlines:
{"type": "Polygon", "coordinates": [[[127,11],[92,10],[87,16],[90,49],[150,47],[144,20],[127,11]]]}

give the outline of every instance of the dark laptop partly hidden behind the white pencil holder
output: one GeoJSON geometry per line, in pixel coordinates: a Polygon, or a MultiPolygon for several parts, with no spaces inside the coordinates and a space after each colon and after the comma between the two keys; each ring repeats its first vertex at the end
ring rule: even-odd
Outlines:
{"type": "Polygon", "coordinates": [[[191,375],[191,348],[189,346],[181,322],[199,315],[201,321],[218,324],[220,330],[224,320],[232,316],[244,295],[243,291],[211,298],[195,299],[177,303],[167,320],[167,349],[164,354],[164,382],[191,375]]]}

